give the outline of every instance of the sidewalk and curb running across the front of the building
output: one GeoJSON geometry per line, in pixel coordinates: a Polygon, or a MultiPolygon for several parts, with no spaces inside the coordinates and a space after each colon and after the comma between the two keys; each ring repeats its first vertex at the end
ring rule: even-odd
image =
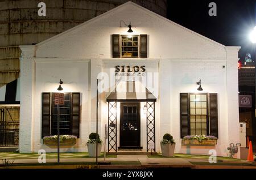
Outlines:
{"type": "MultiPolygon", "coordinates": [[[[71,157],[71,156],[69,156],[71,157]]],[[[90,169],[90,168],[101,168],[101,169],[145,169],[145,168],[214,168],[214,169],[256,169],[256,164],[253,162],[236,160],[232,158],[218,157],[217,164],[210,164],[208,158],[204,156],[188,156],[185,157],[150,157],[146,155],[118,155],[116,157],[108,157],[106,161],[112,162],[111,165],[96,165],[96,158],[61,158],[61,164],[56,164],[56,158],[47,158],[47,164],[39,164],[37,158],[30,159],[11,159],[13,165],[4,166],[3,158],[0,160],[0,166],[2,168],[29,168],[29,169],[90,169]]],[[[104,158],[98,158],[98,162],[103,162],[104,158]]]]}

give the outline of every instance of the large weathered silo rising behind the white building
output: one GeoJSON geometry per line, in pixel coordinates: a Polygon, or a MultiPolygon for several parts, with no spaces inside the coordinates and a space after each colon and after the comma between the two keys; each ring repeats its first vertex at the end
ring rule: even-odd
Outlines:
{"type": "MultiPolygon", "coordinates": [[[[0,87],[19,77],[19,45],[31,45],[66,31],[129,0],[0,0],[0,87]],[[38,4],[46,3],[46,16],[38,4]]],[[[167,0],[134,0],[162,16],[167,0]]]]}

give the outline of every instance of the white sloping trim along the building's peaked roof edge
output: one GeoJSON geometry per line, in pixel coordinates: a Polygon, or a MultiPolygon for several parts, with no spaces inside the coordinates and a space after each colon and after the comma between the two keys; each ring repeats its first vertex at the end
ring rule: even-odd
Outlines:
{"type": "Polygon", "coordinates": [[[160,21],[166,23],[167,25],[171,23],[171,24],[173,24],[173,25],[176,25],[176,26],[179,27],[179,28],[182,28],[183,30],[185,30],[185,31],[187,31],[187,32],[189,32],[189,33],[192,33],[193,35],[196,35],[196,36],[199,36],[199,37],[201,37],[201,38],[204,38],[205,40],[211,42],[212,44],[215,44],[215,45],[219,46],[220,48],[224,48],[224,47],[225,47],[224,45],[222,45],[222,44],[220,44],[220,43],[218,43],[218,42],[216,42],[216,41],[210,40],[210,38],[207,38],[207,37],[205,37],[205,36],[202,36],[202,35],[200,35],[199,33],[196,33],[196,32],[194,32],[194,31],[191,31],[191,30],[188,29],[188,28],[185,28],[185,27],[183,27],[183,26],[181,26],[181,25],[179,25],[179,24],[177,24],[177,23],[175,23],[175,22],[172,22],[171,20],[169,20],[169,19],[167,19],[167,18],[164,18],[163,16],[160,16],[160,15],[156,14],[155,12],[152,12],[152,11],[148,10],[147,8],[144,8],[144,7],[142,7],[142,6],[139,6],[139,5],[137,5],[136,3],[133,3],[133,2],[130,2],[130,1],[124,3],[123,5],[120,5],[120,6],[118,6],[118,7],[115,7],[115,8],[113,8],[113,9],[110,10],[110,11],[107,11],[107,12],[105,12],[104,14],[98,15],[97,17],[95,17],[95,18],[93,18],[93,19],[90,19],[90,20],[88,20],[87,22],[84,22],[84,23],[82,23],[82,24],[80,24],[80,25],[77,25],[76,27],[73,27],[73,28],[71,28],[71,29],[68,29],[67,31],[62,32],[62,33],[60,33],[59,35],[53,36],[53,37],[51,37],[51,38],[49,38],[49,39],[47,39],[47,40],[45,40],[45,41],[42,41],[42,42],[40,42],[39,44],[36,44],[36,46],[41,46],[41,45],[47,44],[47,42],[54,41],[56,38],[58,38],[58,37],[60,37],[60,36],[67,35],[68,33],[72,32],[72,31],[75,31],[76,29],[79,29],[79,28],[84,27],[84,26],[86,26],[86,25],[89,25],[89,24],[92,24],[92,23],[94,23],[94,22],[97,22],[97,20],[101,19],[102,17],[104,17],[104,16],[106,16],[106,15],[112,15],[115,11],[121,10],[122,8],[130,7],[130,6],[133,6],[133,8],[137,8],[137,9],[140,10],[140,11],[144,11],[146,14],[148,14],[148,15],[150,15],[150,16],[154,16],[155,18],[158,18],[160,21]]]}

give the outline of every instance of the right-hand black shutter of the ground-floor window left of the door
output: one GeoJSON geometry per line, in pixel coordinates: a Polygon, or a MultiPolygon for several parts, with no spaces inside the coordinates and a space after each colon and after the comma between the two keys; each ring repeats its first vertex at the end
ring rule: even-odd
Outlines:
{"type": "Polygon", "coordinates": [[[80,93],[72,93],[72,132],[71,135],[80,135],[80,93]]]}

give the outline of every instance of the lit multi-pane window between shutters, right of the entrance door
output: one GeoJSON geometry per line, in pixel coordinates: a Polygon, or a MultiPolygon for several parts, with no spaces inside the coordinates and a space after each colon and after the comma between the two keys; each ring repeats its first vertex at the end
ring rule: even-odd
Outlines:
{"type": "Polygon", "coordinates": [[[190,94],[190,132],[191,135],[208,134],[208,101],[206,94],[190,94]]]}

